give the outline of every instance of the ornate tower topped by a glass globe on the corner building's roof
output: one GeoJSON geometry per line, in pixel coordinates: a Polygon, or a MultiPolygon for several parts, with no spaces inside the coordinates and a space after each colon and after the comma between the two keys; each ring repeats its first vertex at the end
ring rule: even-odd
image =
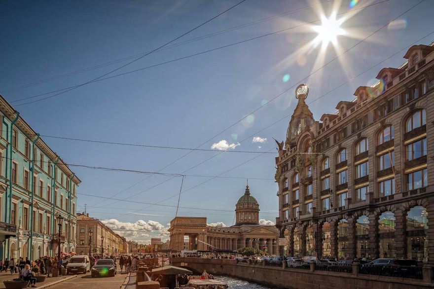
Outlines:
{"type": "Polygon", "coordinates": [[[298,104],[289,121],[286,145],[293,145],[295,139],[301,134],[305,127],[315,123],[313,114],[305,102],[308,94],[309,88],[306,84],[300,84],[295,89],[295,98],[298,99],[298,104]]]}

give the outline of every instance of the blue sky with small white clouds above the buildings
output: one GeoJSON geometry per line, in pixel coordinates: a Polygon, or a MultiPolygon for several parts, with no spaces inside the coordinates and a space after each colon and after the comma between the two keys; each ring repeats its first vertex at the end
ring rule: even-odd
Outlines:
{"type": "MultiPolygon", "coordinates": [[[[178,216],[207,217],[209,224],[230,226],[249,179],[261,222],[272,224],[278,217],[273,138],[286,139],[296,84],[303,80],[309,85],[309,104],[413,42],[434,39],[434,34],[427,36],[434,27],[432,0],[406,13],[419,1],[246,0],[167,49],[120,68],[138,58],[131,56],[166,44],[240,1],[1,1],[0,93],[36,132],[47,136],[42,139],[71,165],[169,174],[71,166],[82,181],[77,211],[84,212],[86,204],[89,216],[131,240],[149,243],[151,237],[167,239],[181,182],[178,216]],[[373,3],[378,4],[362,8],[373,3]],[[343,31],[323,45],[316,41],[321,31],[316,26],[333,12],[343,31]],[[290,27],[295,28],[263,36],[290,27]],[[154,66],[258,36],[263,37],[154,66]],[[146,67],[46,94],[118,68],[107,76],[146,67]],[[50,136],[200,145],[214,151],[50,136]],[[232,152],[220,153],[231,145],[232,152]],[[211,178],[220,175],[228,178],[211,178]],[[162,206],[149,205],[156,203],[162,206]]],[[[314,118],[334,113],[340,100],[351,101],[357,87],[372,85],[383,67],[401,65],[406,50],[310,104],[314,118]]]]}

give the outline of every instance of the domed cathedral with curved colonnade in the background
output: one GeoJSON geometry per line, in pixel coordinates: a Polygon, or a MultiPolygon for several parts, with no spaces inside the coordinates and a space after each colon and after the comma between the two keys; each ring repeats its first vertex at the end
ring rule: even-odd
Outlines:
{"type": "Polygon", "coordinates": [[[272,225],[259,224],[259,204],[249,186],[236,204],[236,223],[230,227],[207,225],[206,217],[176,217],[170,222],[171,249],[222,250],[251,247],[262,250],[266,244],[270,254],[277,254],[278,230],[272,225]],[[185,245],[186,244],[186,245],[185,245]]]}

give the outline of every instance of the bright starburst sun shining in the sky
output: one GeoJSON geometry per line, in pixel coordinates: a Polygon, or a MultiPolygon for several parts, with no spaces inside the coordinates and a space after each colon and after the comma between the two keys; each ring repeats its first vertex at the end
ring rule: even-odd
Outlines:
{"type": "Polygon", "coordinates": [[[323,44],[323,49],[326,48],[330,42],[333,45],[336,45],[337,36],[346,34],[345,30],[340,27],[344,21],[344,18],[336,20],[335,13],[332,13],[329,18],[322,16],[322,24],[312,27],[313,30],[318,33],[318,36],[314,39],[314,42],[316,44],[321,42],[323,44]]]}

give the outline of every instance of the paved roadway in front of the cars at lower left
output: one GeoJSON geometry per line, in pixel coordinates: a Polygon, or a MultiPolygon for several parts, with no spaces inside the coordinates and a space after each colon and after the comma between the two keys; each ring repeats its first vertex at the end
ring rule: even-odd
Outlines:
{"type": "Polygon", "coordinates": [[[78,275],[76,278],[62,282],[51,287],[51,289],[88,289],[88,288],[104,288],[104,289],[119,289],[125,281],[127,274],[117,274],[115,277],[99,277],[91,278],[90,273],[78,275]]]}

